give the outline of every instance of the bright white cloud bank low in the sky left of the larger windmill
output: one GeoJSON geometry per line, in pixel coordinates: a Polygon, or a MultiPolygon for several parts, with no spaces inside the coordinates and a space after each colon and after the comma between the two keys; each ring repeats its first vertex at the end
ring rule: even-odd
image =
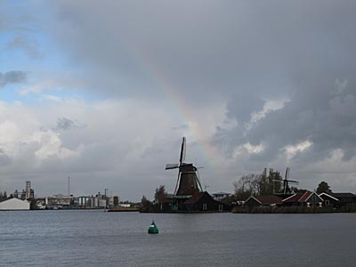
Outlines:
{"type": "MultiPolygon", "coordinates": [[[[89,192],[100,185],[85,183],[85,177],[95,175],[113,188],[120,188],[126,181],[125,188],[131,188],[124,194],[134,198],[142,197],[143,192],[135,189],[142,177],[147,182],[163,179],[168,189],[170,183],[174,184],[175,174],[166,172],[163,166],[177,160],[184,134],[189,142],[187,159],[195,162],[198,158],[206,166],[206,155],[198,143],[213,150],[208,148],[209,136],[224,119],[223,112],[219,112],[221,107],[210,107],[212,116],[206,117],[206,110],[199,110],[190,117],[187,127],[179,128],[183,121],[172,120],[174,111],[169,105],[154,102],[63,99],[41,103],[1,103],[0,148],[12,158],[12,166],[0,168],[0,173],[21,179],[35,176],[34,186],[40,183],[44,188],[56,184],[58,175],[70,174],[82,181],[81,191],[89,192]],[[85,126],[54,131],[63,117],[85,126]]],[[[214,157],[210,159],[219,160],[217,154],[214,157]]],[[[18,179],[9,184],[17,184],[18,179]]]]}

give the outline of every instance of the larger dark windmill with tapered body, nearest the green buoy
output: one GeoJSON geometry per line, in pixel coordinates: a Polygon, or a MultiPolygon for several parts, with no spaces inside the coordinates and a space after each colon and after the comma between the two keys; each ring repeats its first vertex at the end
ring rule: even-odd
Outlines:
{"type": "Polygon", "coordinates": [[[185,163],[185,137],[182,138],[179,163],[166,164],[166,170],[178,169],[177,182],[175,184],[175,196],[191,196],[201,192],[201,184],[198,178],[198,168],[191,163],[185,163]]]}

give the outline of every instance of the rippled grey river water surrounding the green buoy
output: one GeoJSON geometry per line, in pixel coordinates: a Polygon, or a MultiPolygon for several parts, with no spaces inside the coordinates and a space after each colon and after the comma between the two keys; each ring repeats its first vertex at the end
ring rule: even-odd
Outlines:
{"type": "Polygon", "coordinates": [[[356,214],[0,212],[0,266],[355,266],[355,224],[356,214]]]}

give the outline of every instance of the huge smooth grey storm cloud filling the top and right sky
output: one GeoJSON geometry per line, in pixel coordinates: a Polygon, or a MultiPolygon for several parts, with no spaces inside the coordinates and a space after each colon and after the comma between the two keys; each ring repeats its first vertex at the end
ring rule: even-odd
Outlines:
{"type": "Polygon", "coordinates": [[[267,160],[308,139],[315,159],[336,148],[346,159],[355,142],[355,7],[353,1],[61,1],[54,9],[65,23],[54,36],[71,40],[61,45],[96,69],[93,78],[101,77],[95,79],[111,95],[150,97],[158,75],[187,103],[228,101],[227,117],[238,125],[221,126],[215,141],[229,150],[264,142],[256,157],[267,160]],[[335,93],[336,81],[347,81],[344,93],[335,93]],[[246,130],[266,101],[283,98],[289,99],[283,109],[246,130]]]}

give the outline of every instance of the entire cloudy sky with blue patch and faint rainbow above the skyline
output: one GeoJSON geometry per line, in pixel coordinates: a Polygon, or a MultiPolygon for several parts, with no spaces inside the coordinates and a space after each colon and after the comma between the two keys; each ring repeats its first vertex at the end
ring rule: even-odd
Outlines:
{"type": "Polygon", "coordinates": [[[0,1],[0,191],[356,192],[354,1],[0,1]]]}

